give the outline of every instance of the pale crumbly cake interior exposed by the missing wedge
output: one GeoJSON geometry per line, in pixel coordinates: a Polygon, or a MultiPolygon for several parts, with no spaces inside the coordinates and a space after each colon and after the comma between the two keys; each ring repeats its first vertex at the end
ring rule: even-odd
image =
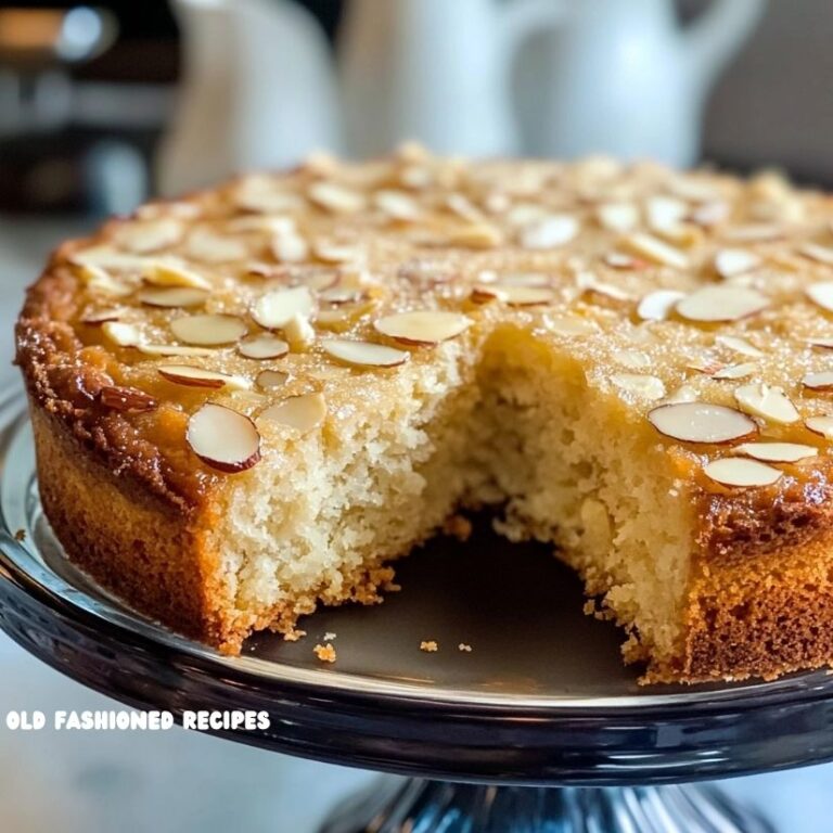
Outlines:
{"type": "Polygon", "coordinates": [[[367,597],[386,560],[492,505],[498,531],[551,542],[580,573],[626,627],[626,658],[679,653],[694,523],[679,474],[644,420],[528,331],[500,325],[477,351],[446,343],[325,432],[270,443],[266,462],[230,478],[215,529],[252,627],[367,597]]]}

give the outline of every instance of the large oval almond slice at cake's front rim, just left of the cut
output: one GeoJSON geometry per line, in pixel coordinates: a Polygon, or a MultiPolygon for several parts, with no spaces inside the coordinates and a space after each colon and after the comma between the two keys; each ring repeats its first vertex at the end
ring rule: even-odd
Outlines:
{"type": "Polygon", "coordinates": [[[220,472],[243,472],[260,459],[260,434],[255,423],[215,402],[191,414],[185,438],[204,463],[220,472]]]}

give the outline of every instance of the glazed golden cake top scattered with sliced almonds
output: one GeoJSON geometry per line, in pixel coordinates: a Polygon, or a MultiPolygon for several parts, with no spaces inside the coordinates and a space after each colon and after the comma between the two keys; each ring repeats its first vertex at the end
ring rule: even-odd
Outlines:
{"type": "MultiPolygon", "coordinates": [[[[177,453],[184,438],[206,476],[508,322],[574,356],[708,488],[766,487],[833,438],[831,220],[829,196],[772,172],[407,146],[142,206],[65,244],[40,283],[60,281],[67,361],[113,380],[99,407],[157,445],[176,434],[177,453]]],[[[24,354],[43,309],[24,310],[24,354]]]]}

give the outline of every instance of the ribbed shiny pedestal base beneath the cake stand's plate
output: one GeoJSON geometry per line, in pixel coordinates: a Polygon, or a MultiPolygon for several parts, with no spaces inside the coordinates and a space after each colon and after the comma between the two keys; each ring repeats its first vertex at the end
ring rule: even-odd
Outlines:
{"type": "Polygon", "coordinates": [[[319,833],[774,833],[713,786],[479,786],[383,778],[319,833]]]}

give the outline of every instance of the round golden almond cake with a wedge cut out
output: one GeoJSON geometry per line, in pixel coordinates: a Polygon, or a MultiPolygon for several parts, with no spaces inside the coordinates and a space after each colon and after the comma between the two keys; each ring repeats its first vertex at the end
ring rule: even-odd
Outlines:
{"type": "Polygon", "coordinates": [[[828,665],[831,220],[773,172],[415,145],[144,205],[28,292],[43,508],[227,653],[376,601],[487,509],[580,574],[645,681],[828,665]]]}

